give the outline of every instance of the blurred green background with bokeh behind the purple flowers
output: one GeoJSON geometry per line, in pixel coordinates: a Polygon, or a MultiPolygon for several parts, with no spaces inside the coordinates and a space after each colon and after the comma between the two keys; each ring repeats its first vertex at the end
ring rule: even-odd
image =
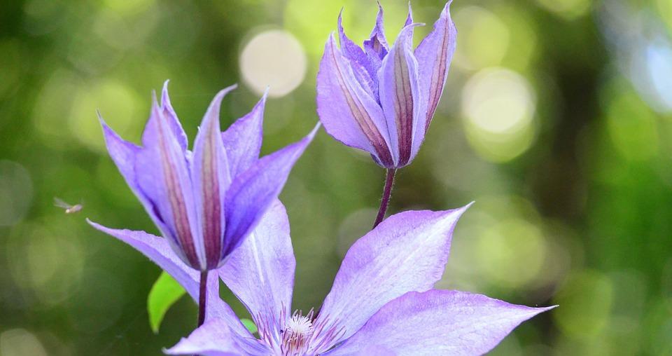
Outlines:
{"type": "MultiPolygon", "coordinates": [[[[393,41],[407,3],[382,3],[393,41]]],[[[433,23],[443,4],[414,0],[415,20],[433,23]]],[[[159,268],[85,224],[156,232],[95,111],[138,142],[151,90],[170,78],[193,139],[217,90],[240,83],[225,127],[271,85],[263,152],[279,149],[318,120],[318,60],[342,6],[363,41],[374,1],[1,1],[2,356],[158,355],[193,329],[184,297],[153,334],[146,298],[159,268]],[[55,196],[84,209],[66,215],[55,196]]],[[[672,355],[672,2],[460,0],[451,13],[447,87],[390,210],[476,201],[437,287],[560,305],[493,355],[672,355]]],[[[383,179],[323,131],[299,160],[281,195],[294,308],[320,305],[372,224],[383,179]]]]}

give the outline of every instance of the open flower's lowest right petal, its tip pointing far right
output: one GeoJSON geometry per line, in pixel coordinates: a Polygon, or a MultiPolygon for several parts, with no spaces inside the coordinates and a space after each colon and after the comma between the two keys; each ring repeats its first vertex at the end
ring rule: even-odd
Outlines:
{"type": "Polygon", "coordinates": [[[372,343],[400,355],[482,355],[521,322],[552,308],[458,291],[409,292],[387,303],[328,355],[359,354],[372,343]]]}

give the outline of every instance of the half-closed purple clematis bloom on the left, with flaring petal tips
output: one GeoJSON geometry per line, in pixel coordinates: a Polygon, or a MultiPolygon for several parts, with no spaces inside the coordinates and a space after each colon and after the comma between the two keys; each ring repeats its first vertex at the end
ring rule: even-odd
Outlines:
{"type": "MultiPolygon", "coordinates": [[[[314,136],[259,158],[266,96],[225,132],[221,90],[211,102],[194,150],[168,97],[154,95],[142,145],[121,139],[100,118],[105,142],[127,184],[179,258],[197,271],[218,268],[277,198],[295,161],[314,136]]],[[[109,232],[98,224],[99,230],[109,232]]]]}

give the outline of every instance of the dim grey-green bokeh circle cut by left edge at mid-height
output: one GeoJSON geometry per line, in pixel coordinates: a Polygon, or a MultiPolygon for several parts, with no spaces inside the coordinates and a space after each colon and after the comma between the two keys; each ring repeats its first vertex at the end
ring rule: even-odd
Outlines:
{"type": "Polygon", "coordinates": [[[29,172],[20,164],[0,160],[0,226],[23,219],[33,198],[29,172]]]}

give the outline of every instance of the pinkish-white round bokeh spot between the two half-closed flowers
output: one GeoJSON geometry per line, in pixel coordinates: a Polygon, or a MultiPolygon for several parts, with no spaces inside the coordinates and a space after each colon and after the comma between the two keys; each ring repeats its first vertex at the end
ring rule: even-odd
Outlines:
{"type": "Polygon", "coordinates": [[[257,94],[269,87],[269,95],[287,95],[306,74],[306,55],[301,43],[289,32],[273,29],[256,34],[240,54],[245,83],[257,94]]]}

